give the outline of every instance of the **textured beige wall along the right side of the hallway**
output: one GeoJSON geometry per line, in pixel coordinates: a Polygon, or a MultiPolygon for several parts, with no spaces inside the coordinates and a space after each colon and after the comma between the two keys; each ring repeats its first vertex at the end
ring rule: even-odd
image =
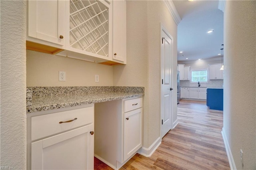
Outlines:
{"type": "Polygon", "coordinates": [[[256,169],[256,1],[226,1],[224,128],[237,169],[256,169]]]}

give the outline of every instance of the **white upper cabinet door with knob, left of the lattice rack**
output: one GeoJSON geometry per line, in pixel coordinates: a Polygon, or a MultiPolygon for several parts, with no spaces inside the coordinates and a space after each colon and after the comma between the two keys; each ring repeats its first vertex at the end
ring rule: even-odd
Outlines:
{"type": "Polygon", "coordinates": [[[27,3],[27,40],[63,48],[66,2],[29,0],[27,3]]]}

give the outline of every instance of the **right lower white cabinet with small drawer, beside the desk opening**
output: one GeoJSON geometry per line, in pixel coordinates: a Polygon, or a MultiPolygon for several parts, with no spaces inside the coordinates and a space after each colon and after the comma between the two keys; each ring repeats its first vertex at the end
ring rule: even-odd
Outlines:
{"type": "Polygon", "coordinates": [[[142,147],[142,98],[95,103],[94,156],[119,169],[142,147]]]}

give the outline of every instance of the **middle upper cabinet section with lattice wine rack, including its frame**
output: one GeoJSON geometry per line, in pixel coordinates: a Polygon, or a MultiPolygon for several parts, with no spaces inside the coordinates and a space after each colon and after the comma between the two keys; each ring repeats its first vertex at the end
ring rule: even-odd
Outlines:
{"type": "Polygon", "coordinates": [[[70,0],[66,9],[66,51],[60,54],[93,62],[109,60],[112,51],[112,4],[104,0],[70,0]]]}

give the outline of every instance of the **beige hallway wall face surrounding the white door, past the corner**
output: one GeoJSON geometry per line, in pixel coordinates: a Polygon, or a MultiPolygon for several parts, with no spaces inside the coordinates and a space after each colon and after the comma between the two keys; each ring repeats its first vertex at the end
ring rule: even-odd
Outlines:
{"type": "Polygon", "coordinates": [[[148,87],[149,87],[149,127],[148,127],[148,144],[151,145],[157,137],[160,136],[160,86],[161,86],[161,67],[160,67],[160,22],[168,30],[173,38],[173,58],[172,63],[172,79],[170,80],[173,88],[172,91],[172,121],[177,119],[177,25],[170,15],[166,4],[163,1],[147,1],[148,2],[148,87]],[[159,121],[156,121],[159,120],[159,121]]]}

